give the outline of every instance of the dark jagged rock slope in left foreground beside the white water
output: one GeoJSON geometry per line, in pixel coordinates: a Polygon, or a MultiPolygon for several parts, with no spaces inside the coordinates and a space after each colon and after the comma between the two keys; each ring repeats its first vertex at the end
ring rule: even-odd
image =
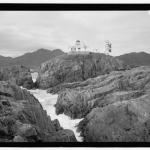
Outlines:
{"type": "Polygon", "coordinates": [[[17,85],[0,81],[1,142],[76,142],[73,131],[51,121],[38,100],[17,85]]]}

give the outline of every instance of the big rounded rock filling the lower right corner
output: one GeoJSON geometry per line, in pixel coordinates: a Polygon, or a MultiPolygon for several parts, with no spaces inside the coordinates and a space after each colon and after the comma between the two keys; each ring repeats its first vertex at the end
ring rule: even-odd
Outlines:
{"type": "Polygon", "coordinates": [[[97,107],[79,123],[86,142],[150,142],[150,94],[97,107]]]}

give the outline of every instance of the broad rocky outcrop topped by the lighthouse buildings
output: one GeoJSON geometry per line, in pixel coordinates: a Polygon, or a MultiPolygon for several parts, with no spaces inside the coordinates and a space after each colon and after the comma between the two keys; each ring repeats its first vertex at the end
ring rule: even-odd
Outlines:
{"type": "Polygon", "coordinates": [[[121,61],[105,54],[61,55],[41,65],[37,85],[47,89],[126,68],[121,61]]]}

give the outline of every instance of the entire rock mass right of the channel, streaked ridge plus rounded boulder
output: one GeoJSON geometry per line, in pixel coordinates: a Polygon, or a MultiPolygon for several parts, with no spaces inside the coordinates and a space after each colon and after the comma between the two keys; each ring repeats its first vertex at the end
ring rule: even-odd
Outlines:
{"type": "Polygon", "coordinates": [[[150,67],[113,71],[66,84],[56,111],[82,118],[86,142],[150,141],[150,67]]]}

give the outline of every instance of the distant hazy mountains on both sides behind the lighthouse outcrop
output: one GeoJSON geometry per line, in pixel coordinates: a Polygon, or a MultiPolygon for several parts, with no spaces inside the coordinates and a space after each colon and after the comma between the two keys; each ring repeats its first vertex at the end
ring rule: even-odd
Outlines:
{"type": "MultiPolygon", "coordinates": [[[[50,60],[58,55],[66,54],[61,49],[44,49],[40,48],[33,52],[25,53],[17,57],[5,57],[0,55],[0,67],[2,66],[12,66],[12,65],[24,65],[31,69],[37,69],[43,62],[50,60]]],[[[122,54],[119,56],[114,56],[125,64],[132,67],[137,66],[150,66],[150,53],[141,52],[131,52],[122,54]]]]}

